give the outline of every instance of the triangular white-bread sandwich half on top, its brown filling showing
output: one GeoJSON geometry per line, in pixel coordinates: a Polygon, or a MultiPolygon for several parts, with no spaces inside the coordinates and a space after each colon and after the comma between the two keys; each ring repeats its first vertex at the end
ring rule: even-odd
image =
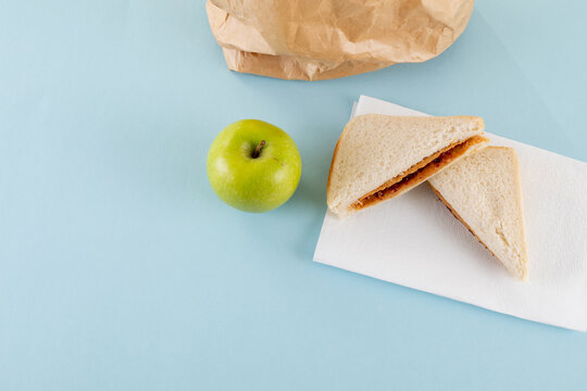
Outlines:
{"type": "Polygon", "coordinates": [[[473,116],[355,116],[333,155],[328,207],[344,217],[399,195],[485,147],[483,129],[483,119],[473,116]]]}

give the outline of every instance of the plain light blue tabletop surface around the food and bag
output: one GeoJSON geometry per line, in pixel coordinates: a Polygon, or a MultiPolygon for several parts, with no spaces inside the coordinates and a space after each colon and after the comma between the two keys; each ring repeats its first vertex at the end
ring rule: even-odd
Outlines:
{"type": "Polygon", "coordinates": [[[0,390],[585,389],[583,333],[312,254],[360,93],[587,161],[586,14],[478,1],[435,60],[300,83],[228,72],[199,0],[0,0],[0,390]],[[246,117],[303,159],[263,215],[205,176],[246,117]]]}

